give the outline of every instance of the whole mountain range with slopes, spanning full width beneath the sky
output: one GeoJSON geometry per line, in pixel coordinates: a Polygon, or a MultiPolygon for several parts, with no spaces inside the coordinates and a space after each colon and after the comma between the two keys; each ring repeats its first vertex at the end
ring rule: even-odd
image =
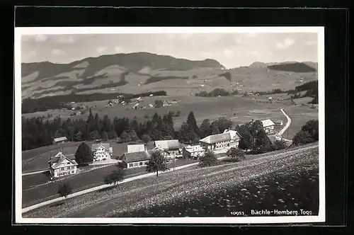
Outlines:
{"type": "Polygon", "coordinates": [[[226,91],[293,89],[317,79],[314,62],[254,62],[225,69],[214,59],[192,61],[147,52],[89,57],[69,64],[22,64],[22,98],[150,93],[190,96],[215,88],[226,91]]]}

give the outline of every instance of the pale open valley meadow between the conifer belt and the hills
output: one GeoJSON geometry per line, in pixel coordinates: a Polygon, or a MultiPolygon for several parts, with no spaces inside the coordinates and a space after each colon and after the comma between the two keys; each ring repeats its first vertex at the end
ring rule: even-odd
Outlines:
{"type": "MultiPolygon", "coordinates": [[[[261,97],[261,96],[258,96],[261,97]]],[[[130,105],[121,105],[115,104],[112,107],[105,107],[108,101],[93,101],[82,103],[84,105],[88,105],[92,107],[91,110],[93,114],[98,113],[100,117],[103,115],[108,115],[111,119],[113,117],[129,117],[131,120],[134,117],[137,117],[138,122],[144,122],[147,120],[145,116],[151,118],[154,113],[159,113],[160,115],[164,115],[169,113],[169,111],[180,111],[181,115],[179,117],[173,117],[173,122],[175,125],[175,129],[179,129],[181,124],[186,120],[190,111],[193,111],[195,114],[195,118],[198,122],[198,125],[201,124],[202,120],[208,118],[211,121],[216,120],[218,117],[227,117],[230,118],[235,125],[241,124],[244,122],[248,122],[252,119],[267,119],[267,118],[276,118],[283,119],[283,115],[280,112],[280,108],[285,108],[285,111],[289,113],[289,115],[301,115],[303,120],[299,120],[299,125],[303,124],[309,119],[318,118],[318,111],[311,109],[309,107],[297,107],[296,105],[290,105],[288,102],[278,102],[278,103],[264,103],[264,102],[256,102],[252,98],[244,98],[241,96],[224,96],[224,97],[196,97],[196,96],[156,96],[156,97],[147,97],[144,98],[144,101],[140,103],[142,106],[148,106],[149,103],[154,104],[156,100],[166,100],[173,101],[176,100],[178,103],[176,105],[161,107],[161,108],[147,108],[147,109],[132,109],[134,104],[130,105]],[[96,106],[96,107],[95,107],[96,106]]],[[[88,114],[69,117],[69,115],[64,115],[59,110],[57,110],[57,115],[62,118],[72,118],[79,119],[83,118],[87,119],[88,114]]],[[[28,114],[35,115],[35,114],[28,114]]],[[[53,115],[52,118],[54,118],[53,115]]],[[[286,119],[284,119],[286,120],[286,119]]],[[[290,136],[297,132],[297,126],[292,127],[290,125],[290,136]]]]}

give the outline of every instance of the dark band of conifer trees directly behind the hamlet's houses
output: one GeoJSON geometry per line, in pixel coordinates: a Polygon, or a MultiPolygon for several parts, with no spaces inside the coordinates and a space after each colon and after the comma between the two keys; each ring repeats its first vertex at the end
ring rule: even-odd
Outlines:
{"type": "Polygon", "coordinates": [[[44,117],[22,119],[22,149],[35,149],[52,144],[56,137],[67,137],[69,141],[79,142],[96,139],[117,139],[117,142],[149,142],[159,139],[179,139],[181,142],[198,142],[198,139],[210,134],[219,134],[232,127],[232,122],[220,117],[210,123],[203,120],[200,127],[197,125],[193,112],[190,112],[181,129],[174,128],[173,117],[180,113],[169,113],[161,116],[155,113],[150,120],[137,122],[137,117],[130,120],[128,117],[114,117],[111,120],[108,115],[101,119],[98,113],[93,115],[89,110],[87,120],[62,120],[55,117],[50,122],[44,121],[44,117]]]}

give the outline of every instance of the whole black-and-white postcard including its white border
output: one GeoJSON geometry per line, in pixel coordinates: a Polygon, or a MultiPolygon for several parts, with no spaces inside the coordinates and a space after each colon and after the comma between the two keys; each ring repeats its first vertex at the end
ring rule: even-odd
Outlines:
{"type": "Polygon", "coordinates": [[[325,222],[323,27],[15,28],[16,222],[325,222]]]}

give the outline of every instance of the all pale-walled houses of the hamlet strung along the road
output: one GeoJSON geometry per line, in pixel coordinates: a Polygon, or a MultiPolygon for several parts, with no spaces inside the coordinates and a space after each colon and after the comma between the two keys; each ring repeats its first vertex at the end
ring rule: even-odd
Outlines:
{"type": "MultiPolygon", "coordinates": [[[[263,130],[268,134],[274,132],[275,123],[272,120],[262,120],[263,130]]],[[[281,120],[276,120],[282,125],[281,120]]],[[[178,139],[156,140],[152,149],[147,149],[145,144],[128,144],[127,151],[122,155],[121,161],[125,161],[127,168],[138,168],[146,166],[152,151],[161,151],[166,159],[199,159],[204,156],[205,151],[217,151],[239,147],[241,135],[235,130],[224,130],[221,134],[211,134],[199,140],[199,144],[185,145],[178,139]]],[[[56,143],[65,142],[66,137],[56,138],[56,143]]],[[[92,144],[93,161],[106,161],[113,158],[113,148],[109,143],[92,144]]],[[[67,176],[76,173],[76,161],[68,159],[62,151],[48,161],[52,177],[67,176]]]]}

